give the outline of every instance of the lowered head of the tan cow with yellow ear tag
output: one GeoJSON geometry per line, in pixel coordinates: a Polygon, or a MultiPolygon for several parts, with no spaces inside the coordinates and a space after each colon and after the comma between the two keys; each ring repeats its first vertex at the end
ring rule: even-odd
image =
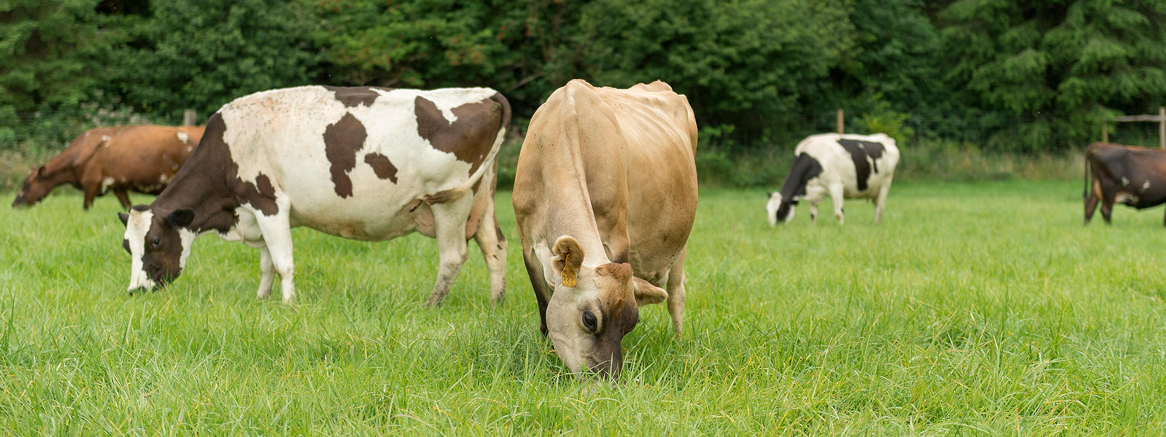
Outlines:
{"type": "Polygon", "coordinates": [[[571,372],[617,378],[624,366],[624,336],[639,322],[639,308],[668,294],[632,275],[626,262],[583,266],[583,248],[571,237],[555,241],[553,265],[561,280],[547,304],[547,333],[571,372]]]}

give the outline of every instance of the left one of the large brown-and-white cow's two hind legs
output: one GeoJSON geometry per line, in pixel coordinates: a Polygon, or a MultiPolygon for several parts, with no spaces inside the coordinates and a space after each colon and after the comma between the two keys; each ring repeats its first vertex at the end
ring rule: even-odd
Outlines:
{"type": "Polygon", "coordinates": [[[434,227],[437,234],[437,282],[434,291],[429,295],[427,306],[436,305],[445,298],[449,288],[457,279],[457,272],[462,269],[462,263],[466,258],[465,221],[470,217],[470,209],[473,206],[472,196],[462,198],[448,204],[430,205],[434,212],[434,227]]]}

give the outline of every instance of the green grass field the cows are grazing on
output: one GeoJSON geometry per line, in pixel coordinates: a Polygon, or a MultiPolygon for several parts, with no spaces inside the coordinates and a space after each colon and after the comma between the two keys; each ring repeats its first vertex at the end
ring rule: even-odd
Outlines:
{"type": "Polygon", "coordinates": [[[642,309],[616,387],[539,333],[507,193],[497,309],[472,242],[438,309],[435,240],[303,228],[296,305],[216,237],[129,296],[114,198],[0,209],[0,434],[1164,432],[1161,209],[1082,227],[1080,182],[899,184],[883,225],[851,202],[771,228],[761,191],[701,196],[686,334],[642,309]]]}

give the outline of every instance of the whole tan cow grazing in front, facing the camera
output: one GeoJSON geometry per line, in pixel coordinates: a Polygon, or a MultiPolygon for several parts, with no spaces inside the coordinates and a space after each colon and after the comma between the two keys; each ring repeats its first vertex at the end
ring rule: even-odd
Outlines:
{"type": "Polygon", "coordinates": [[[695,151],[688,99],[659,80],[571,80],[531,119],[514,214],[542,332],[571,372],[618,376],[640,306],[667,298],[681,333],[695,151]]]}

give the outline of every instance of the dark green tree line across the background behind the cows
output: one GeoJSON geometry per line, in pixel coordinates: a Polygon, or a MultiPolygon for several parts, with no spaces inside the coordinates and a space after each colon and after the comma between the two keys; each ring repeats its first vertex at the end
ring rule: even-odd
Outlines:
{"type": "Polygon", "coordinates": [[[305,84],[491,86],[522,124],[584,78],[663,79],[729,149],[843,107],[900,141],[1058,150],[1166,105],[1164,23],[1166,0],[3,0],[0,145],[305,84]]]}

